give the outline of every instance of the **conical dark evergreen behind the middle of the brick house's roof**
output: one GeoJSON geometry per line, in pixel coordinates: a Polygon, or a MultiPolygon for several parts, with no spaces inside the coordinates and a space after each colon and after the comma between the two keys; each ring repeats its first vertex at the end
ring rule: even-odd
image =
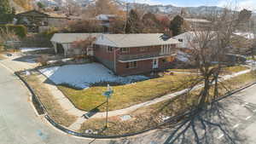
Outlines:
{"type": "Polygon", "coordinates": [[[140,26],[141,20],[137,14],[137,11],[131,9],[128,19],[126,21],[125,33],[140,33],[142,32],[142,27],[140,26]]]}

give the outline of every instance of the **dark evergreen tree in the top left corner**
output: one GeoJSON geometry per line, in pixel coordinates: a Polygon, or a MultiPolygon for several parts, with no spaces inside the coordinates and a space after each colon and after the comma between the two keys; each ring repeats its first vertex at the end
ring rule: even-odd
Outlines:
{"type": "Polygon", "coordinates": [[[9,0],[0,1],[0,23],[7,23],[13,19],[12,8],[9,0]]]}

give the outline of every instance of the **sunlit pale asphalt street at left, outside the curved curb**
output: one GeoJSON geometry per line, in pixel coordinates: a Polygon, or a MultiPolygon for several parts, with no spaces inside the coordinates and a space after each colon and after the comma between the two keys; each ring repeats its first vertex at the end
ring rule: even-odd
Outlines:
{"type": "Polygon", "coordinates": [[[26,87],[0,65],[0,144],[87,144],[90,141],[63,134],[38,117],[26,87]]]}

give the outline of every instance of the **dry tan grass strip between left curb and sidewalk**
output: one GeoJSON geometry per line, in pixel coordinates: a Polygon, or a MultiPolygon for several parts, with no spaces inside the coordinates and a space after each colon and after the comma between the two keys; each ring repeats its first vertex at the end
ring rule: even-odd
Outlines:
{"type": "Polygon", "coordinates": [[[32,87],[40,101],[43,102],[44,107],[51,118],[56,123],[64,126],[69,126],[75,122],[76,117],[65,112],[54,96],[50,94],[49,89],[44,87],[37,78],[37,75],[33,74],[28,77],[24,77],[26,82],[32,87]]]}

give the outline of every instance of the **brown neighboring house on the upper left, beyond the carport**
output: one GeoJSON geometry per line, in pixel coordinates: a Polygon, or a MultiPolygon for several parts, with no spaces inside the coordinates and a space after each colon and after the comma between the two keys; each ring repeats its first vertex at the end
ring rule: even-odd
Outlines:
{"type": "Polygon", "coordinates": [[[42,13],[38,10],[16,14],[16,19],[16,24],[26,26],[28,32],[39,32],[39,27],[64,26],[68,21],[64,14],[42,13]]]}

